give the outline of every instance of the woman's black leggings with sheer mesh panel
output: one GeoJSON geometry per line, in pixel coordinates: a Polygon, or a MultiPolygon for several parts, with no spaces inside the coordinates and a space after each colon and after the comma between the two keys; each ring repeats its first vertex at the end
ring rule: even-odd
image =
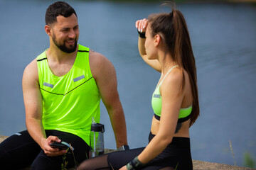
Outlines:
{"type": "MultiPolygon", "coordinates": [[[[153,137],[154,135],[150,133],[149,142],[153,137]]],[[[103,154],[100,157],[87,159],[78,166],[78,169],[120,169],[128,162],[131,162],[132,159],[137,157],[143,150],[144,147],[103,154]]],[[[143,169],[193,169],[189,138],[174,137],[171,144],[169,144],[159,156],[147,163],[143,169]]]]}

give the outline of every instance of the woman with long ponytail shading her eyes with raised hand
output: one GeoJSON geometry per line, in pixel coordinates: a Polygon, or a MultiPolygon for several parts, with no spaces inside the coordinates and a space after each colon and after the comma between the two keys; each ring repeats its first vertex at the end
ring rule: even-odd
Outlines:
{"type": "Polygon", "coordinates": [[[136,22],[139,54],[161,72],[152,95],[149,144],[88,159],[78,169],[193,169],[189,128],[199,115],[196,62],[180,11],[136,22]]]}

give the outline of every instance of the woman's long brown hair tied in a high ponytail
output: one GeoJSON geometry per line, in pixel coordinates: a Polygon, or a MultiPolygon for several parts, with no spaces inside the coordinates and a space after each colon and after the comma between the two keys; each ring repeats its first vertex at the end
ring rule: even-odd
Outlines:
{"type": "MultiPolygon", "coordinates": [[[[191,83],[193,95],[193,110],[191,123],[193,125],[200,113],[198,101],[198,87],[196,75],[196,61],[193,55],[191,40],[182,13],[172,7],[171,13],[156,13],[149,16],[151,36],[159,34],[171,52],[174,62],[178,63],[181,69],[185,69],[191,83]]],[[[185,86],[184,72],[181,91],[185,86]]]]}

